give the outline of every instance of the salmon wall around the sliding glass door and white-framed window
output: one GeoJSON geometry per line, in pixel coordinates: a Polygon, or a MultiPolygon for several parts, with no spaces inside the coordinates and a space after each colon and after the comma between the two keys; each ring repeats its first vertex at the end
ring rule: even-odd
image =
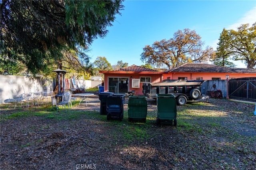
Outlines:
{"type": "Polygon", "coordinates": [[[140,77],[151,77],[151,83],[162,82],[162,75],[160,74],[104,74],[104,92],[108,91],[108,77],[127,77],[129,80],[128,91],[135,90],[135,95],[143,95],[142,85],[140,88],[132,88],[132,79],[140,79],[140,77]]]}

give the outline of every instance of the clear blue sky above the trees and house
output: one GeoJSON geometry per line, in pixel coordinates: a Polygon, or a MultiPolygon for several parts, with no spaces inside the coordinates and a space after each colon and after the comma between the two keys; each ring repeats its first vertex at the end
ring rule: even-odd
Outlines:
{"type": "Polygon", "coordinates": [[[236,30],[241,24],[256,22],[256,0],[126,0],[123,5],[122,16],[116,16],[106,37],[90,46],[91,62],[100,56],[111,65],[120,60],[145,64],[140,61],[143,47],[173,38],[185,28],[195,30],[205,47],[216,49],[223,28],[236,30]]]}

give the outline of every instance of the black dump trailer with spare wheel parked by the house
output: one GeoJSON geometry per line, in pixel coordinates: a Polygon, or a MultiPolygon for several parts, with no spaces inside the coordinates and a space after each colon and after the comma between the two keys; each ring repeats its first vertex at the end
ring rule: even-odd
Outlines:
{"type": "MultiPolygon", "coordinates": [[[[166,80],[167,81],[167,80],[166,80]]],[[[148,83],[143,85],[143,94],[156,99],[156,94],[173,94],[177,105],[186,105],[187,101],[208,99],[207,95],[201,95],[201,86],[204,80],[175,80],[163,83],[148,83]]]]}

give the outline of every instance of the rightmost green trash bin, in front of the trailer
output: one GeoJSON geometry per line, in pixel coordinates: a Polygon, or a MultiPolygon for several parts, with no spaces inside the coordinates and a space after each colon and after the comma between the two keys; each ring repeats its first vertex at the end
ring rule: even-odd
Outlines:
{"type": "Polygon", "coordinates": [[[177,126],[177,106],[175,96],[172,94],[156,94],[157,118],[156,124],[161,123],[177,126]]]}

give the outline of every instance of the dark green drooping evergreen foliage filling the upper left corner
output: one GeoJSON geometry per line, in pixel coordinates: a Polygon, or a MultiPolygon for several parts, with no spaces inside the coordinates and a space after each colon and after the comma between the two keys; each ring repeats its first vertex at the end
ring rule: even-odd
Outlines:
{"type": "Polygon", "coordinates": [[[122,0],[2,0],[0,5],[0,59],[18,61],[34,74],[59,66],[69,51],[82,57],[78,47],[106,36],[123,9],[122,0]]]}

